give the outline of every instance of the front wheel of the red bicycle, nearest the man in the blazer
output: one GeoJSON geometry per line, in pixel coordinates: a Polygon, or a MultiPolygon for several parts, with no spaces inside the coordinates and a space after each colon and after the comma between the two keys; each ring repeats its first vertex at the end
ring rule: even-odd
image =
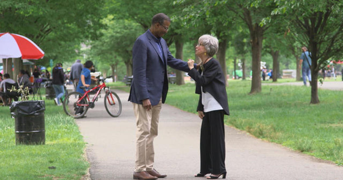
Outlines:
{"type": "Polygon", "coordinates": [[[118,95],[113,91],[108,91],[104,97],[105,109],[112,117],[118,117],[121,113],[121,102],[118,95]]]}

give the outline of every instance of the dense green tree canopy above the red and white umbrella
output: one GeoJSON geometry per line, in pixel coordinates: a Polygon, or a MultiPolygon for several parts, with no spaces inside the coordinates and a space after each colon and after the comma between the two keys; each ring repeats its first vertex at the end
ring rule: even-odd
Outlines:
{"type": "Polygon", "coordinates": [[[101,27],[103,0],[0,1],[0,32],[24,35],[45,51],[45,61],[74,60],[75,49],[101,27]]]}

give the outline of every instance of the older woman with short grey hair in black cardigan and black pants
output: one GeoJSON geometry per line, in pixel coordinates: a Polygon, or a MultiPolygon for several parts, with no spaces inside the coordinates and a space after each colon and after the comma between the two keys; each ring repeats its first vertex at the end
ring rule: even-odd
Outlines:
{"type": "Polygon", "coordinates": [[[194,60],[189,59],[188,75],[196,81],[196,94],[200,94],[198,115],[202,119],[200,133],[200,173],[195,177],[208,179],[226,177],[224,115],[229,115],[225,77],[219,62],[213,58],[218,51],[218,39],[202,35],[196,46],[196,55],[201,59],[199,71],[194,69],[194,60]]]}

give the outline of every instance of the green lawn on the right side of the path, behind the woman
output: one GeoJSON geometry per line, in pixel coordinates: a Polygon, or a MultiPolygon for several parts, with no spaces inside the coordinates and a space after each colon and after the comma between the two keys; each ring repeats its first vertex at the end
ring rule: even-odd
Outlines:
{"type": "MultiPolygon", "coordinates": [[[[249,95],[250,87],[250,81],[229,81],[227,125],[343,164],[342,91],[319,89],[320,104],[311,105],[310,87],[263,85],[261,93],[249,95]]],[[[196,113],[194,91],[194,84],[169,85],[166,103],[196,113]]]]}

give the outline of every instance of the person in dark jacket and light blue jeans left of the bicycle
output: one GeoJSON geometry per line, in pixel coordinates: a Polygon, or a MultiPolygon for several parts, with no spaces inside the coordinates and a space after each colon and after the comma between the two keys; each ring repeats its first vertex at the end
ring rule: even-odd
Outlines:
{"type": "Polygon", "coordinates": [[[57,63],[54,69],[52,69],[52,87],[55,90],[55,103],[61,106],[60,98],[64,95],[64,73],[62,68],[62,63],[57,63]]]}

